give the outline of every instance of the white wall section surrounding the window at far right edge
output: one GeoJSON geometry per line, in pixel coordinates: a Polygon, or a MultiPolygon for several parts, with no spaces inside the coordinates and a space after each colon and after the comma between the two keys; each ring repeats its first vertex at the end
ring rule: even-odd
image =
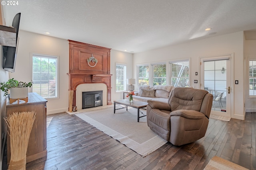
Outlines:
{"type": "Polygon", "coordinates": [[[245,60],[245,107],[246,112],[256,112],[256,98],[249,98],[249,67],[248,62],[250,59],[256,60],[256,40],[246,40],[244,43],[244,56],[245,60]]]}

